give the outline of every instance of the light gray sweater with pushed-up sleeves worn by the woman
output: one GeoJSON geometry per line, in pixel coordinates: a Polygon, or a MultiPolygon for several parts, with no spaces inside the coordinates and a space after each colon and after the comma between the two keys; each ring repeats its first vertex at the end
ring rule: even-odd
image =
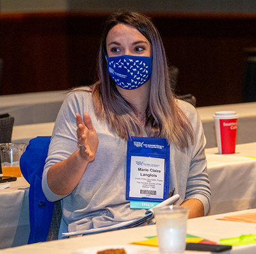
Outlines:
{"type": "MultiPolygon", "coordinates": [[[[91,93],[73,91],[61,106],[52,132],[51,144],[42,179],[45,196],[51,202],[61,200],[63,216],[60,234],[114,225],[138,219],[144,209],[130,209],[125,200],[127,142],[115,131],[109,131],[106,122],[98,120],[93,109],[91,93]],[[67,196],[59,196],[47,185],[47,171],[77,150],[76,116],[89,113],[99,137],[95,161],[88,164],[76,189],[67,196]]],[[[170,189],[180,195],[179,204],[190,198],[200,200],[204,214],[210,209],[211,190],[205,159],[205,136],[195,107],[179,101],[195,130],[195,145],[182,150],[170,145],[170,189]]],[[[67,175],[68,177],[68,175],[67,175]]]]}

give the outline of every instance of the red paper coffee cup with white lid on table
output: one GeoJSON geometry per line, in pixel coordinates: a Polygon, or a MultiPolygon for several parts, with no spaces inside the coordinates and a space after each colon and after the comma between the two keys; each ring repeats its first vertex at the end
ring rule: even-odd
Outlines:
{"type": "Polygon", "coordinates": [[[218,153],[234,154],[236,152],[238,115],[235,111],[218,111],[213,118],[215,120],[218,153]]]}

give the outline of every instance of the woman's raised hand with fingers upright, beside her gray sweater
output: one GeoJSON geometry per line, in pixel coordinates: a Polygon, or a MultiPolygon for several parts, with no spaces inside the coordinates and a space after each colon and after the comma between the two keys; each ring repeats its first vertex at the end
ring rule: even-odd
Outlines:
{"type": "Polygon", "coordinates": [[[79,154],[87,161],[93,161],[97,152],[99,139],[95,131],[92,120],[88,113],[82,116],[76,114],[77,142],[79,144],[79,154]]]}

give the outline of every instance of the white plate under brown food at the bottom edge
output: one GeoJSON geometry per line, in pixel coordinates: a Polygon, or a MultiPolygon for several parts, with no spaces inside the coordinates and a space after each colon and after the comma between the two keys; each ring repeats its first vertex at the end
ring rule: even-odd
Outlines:
{"type": "Polygon", "coordinates": [[[127,254],[147,254],[148,248],[139,245],[106,245],[79,249],[72,254],[97,254],[97,251],[109,250],[109,249],[124,249],[127,254]]]}

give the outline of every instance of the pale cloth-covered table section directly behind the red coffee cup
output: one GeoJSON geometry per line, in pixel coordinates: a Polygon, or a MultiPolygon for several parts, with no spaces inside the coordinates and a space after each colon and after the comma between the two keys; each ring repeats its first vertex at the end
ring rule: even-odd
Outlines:
{"type": "Polygon", "coordinates": [[[207,140],[206,148],[217,147],[214,120],[216,111],[236,111],[237,144],[256,142],[256,102],[227,104],[218,106],[196,107],[203,123],[207,140]]]}

